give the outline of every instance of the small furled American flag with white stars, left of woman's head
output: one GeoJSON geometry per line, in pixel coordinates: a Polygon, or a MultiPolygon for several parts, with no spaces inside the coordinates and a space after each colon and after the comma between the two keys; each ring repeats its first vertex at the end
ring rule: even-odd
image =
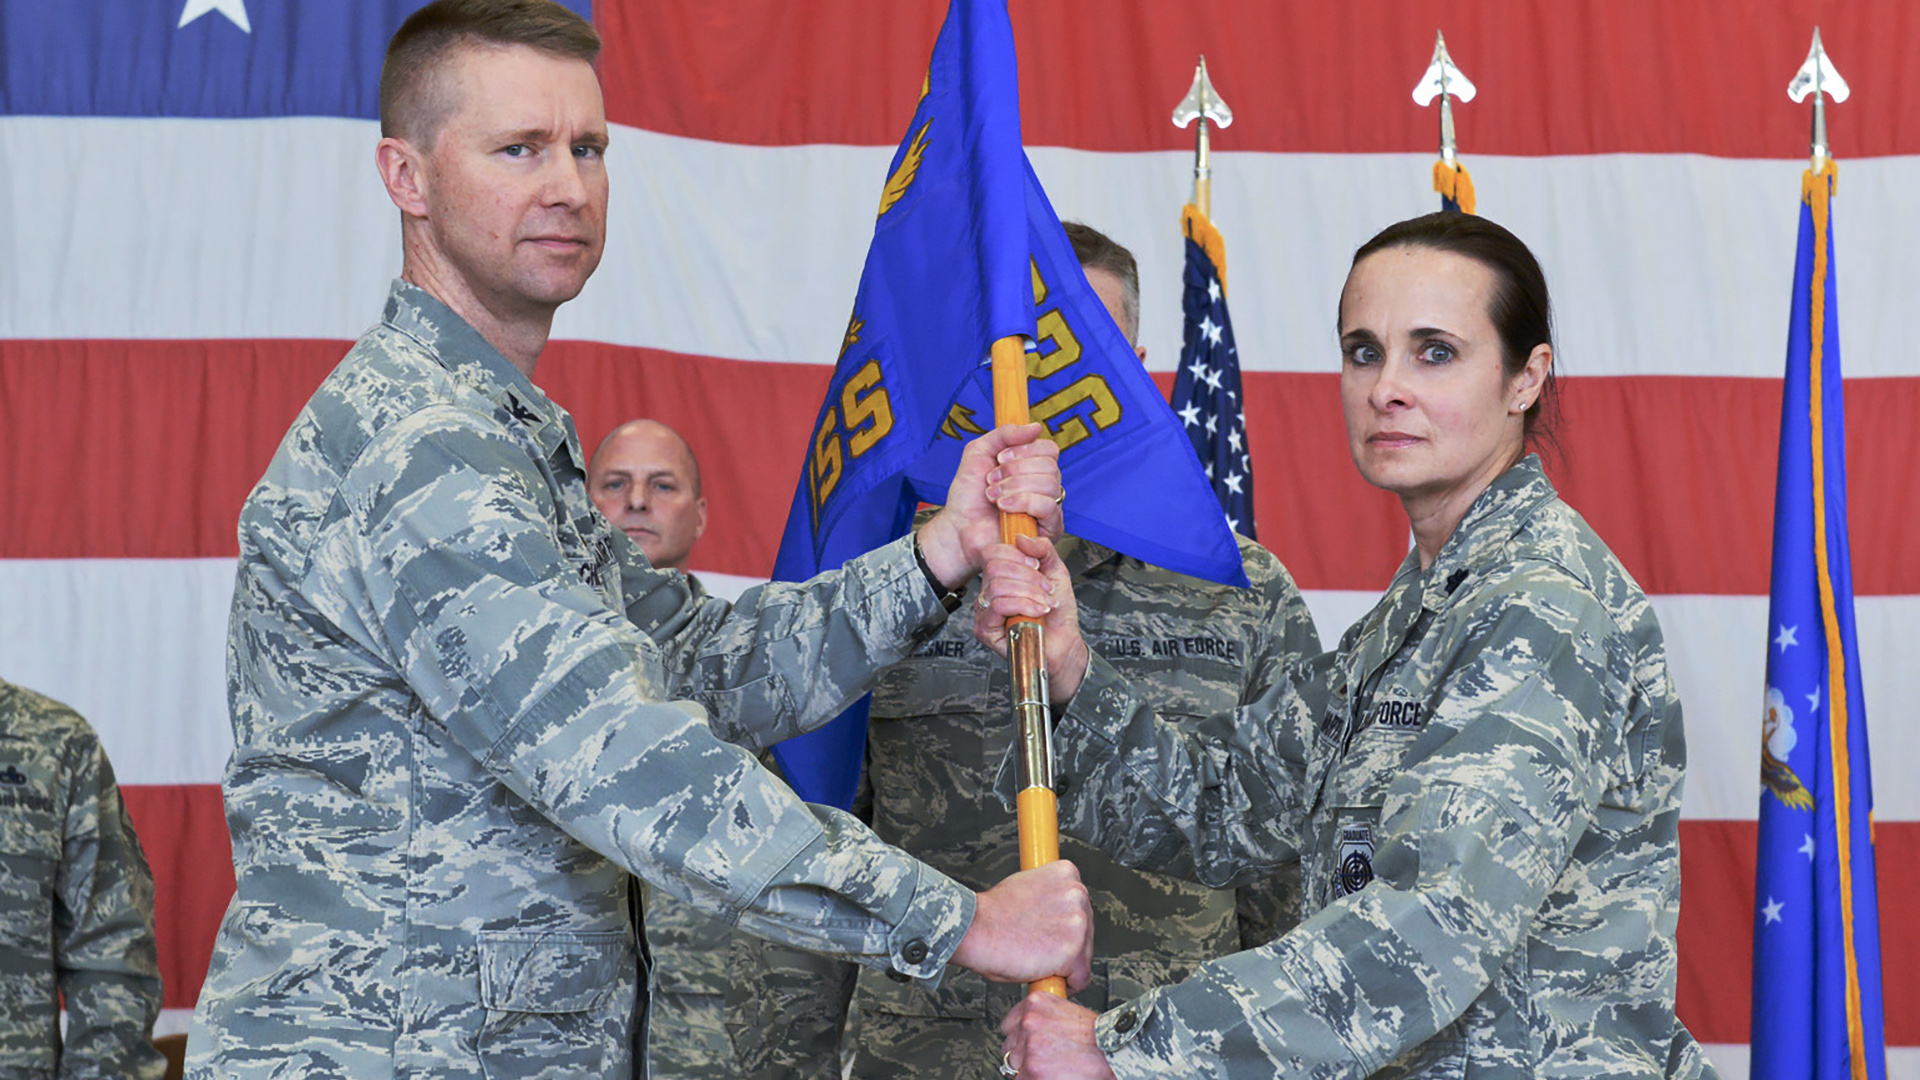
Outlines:
{"type": "Polygon", "coordinates": [[[1254,532],[1254,457],[1246,450],[1246,400],[1240,396],[1240,352],[1227,317],[1227,242],[1219,229],[1188,204],[1181,211],[1187,234],[1187,273],[1181,311],[1181,369],[1173,377],[1173,415],[1206,469],[1227,525],[1254,532]]]}

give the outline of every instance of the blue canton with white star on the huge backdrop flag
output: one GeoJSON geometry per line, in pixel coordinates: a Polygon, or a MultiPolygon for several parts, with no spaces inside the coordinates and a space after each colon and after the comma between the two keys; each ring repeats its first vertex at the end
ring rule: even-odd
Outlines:
{"type": "MultiPolygon", "coordinates": [[[[591,19],[586,0],[561,0],[591,19]]],[[[372,119],[380,61],[426,0],[0,4],[0,113],[372,119]]]]}

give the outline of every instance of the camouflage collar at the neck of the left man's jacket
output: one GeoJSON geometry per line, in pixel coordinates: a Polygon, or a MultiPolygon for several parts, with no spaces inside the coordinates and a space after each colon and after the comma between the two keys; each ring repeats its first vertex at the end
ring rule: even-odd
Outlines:
{"type": "Polygon", "coordinates": [[[566,409],[555,405],[526,373],[440,298],[396,277],[380,321],[420,342],[449,375],[520,423],[547,457],[564,450],[574,467],[586,471],[580,434],[566,409]]]}

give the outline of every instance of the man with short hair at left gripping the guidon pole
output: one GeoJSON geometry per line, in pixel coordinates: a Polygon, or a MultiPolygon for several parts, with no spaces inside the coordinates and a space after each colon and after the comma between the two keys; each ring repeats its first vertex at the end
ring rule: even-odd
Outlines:
{"type": "Polygon", "coordinates": [[[401,279],[240,513],[196,1078],[624,1080],[630,872],[902,978],[1089,980],[1069,865],[975,896],[755,763],[937,628],[998,509],[1058,534],[1056,450],[983,434],[914,536],[735,605],[651,569],[532,382],[605,236],[597,50],[549,0],[436,0],[388,48],[401,279]]]}

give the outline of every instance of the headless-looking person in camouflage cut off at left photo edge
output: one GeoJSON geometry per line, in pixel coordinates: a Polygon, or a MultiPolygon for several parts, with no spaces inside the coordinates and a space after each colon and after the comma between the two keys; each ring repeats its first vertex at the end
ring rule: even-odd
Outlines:
{"type": "Polygon", "coordinates": [[[79,713],[0,680],[0,1080],[159,1080],[156,1017],[154,874],[113,767],[79,713]]]}

